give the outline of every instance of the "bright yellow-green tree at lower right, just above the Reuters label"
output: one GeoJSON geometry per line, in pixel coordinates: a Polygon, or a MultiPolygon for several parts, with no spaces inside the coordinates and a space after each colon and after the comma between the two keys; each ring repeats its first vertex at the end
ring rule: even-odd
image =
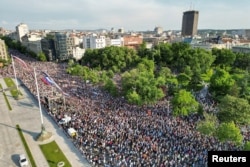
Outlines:
{"type": "Polygon", "coordinates": [[[240,128],[233,122],[221,123],[217,129],[216,136],[221,142],[231,141],[238,145],[243,140],[240,128]]]}

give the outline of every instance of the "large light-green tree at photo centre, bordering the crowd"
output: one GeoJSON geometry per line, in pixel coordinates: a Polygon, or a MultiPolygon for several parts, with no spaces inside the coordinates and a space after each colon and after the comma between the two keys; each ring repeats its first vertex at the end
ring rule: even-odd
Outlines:
{"type": "MultiPolygon", "coordinates": [[[[155,103],[164,97],[161,89],[163,85],[165,85],[165,79],[164,77],[156,77],[154,75],[154,63],[152,60],[143,59],[136,69],[122,74],[122,90],[125,97],[134,99],[132,97],[136,93],[139,95],[142,104],[155,103]]],[[[136,100],[135,102],[138,103],[136,100]]]]}

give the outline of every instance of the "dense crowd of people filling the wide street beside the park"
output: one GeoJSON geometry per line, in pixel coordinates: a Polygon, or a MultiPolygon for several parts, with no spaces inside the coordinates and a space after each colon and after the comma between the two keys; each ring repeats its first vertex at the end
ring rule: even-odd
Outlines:
{"type": "MultiPolygon", "coordinates": [[[[150,106],[130,105],[123,97],[114,98],[98,86],[70,76],[66,63],[37,62],[20,53],[13,54],[38,73],[46,71],[69,94],[57,96],[60,91],[38,79],[43,106],[57,123],[65,115],[71,117],[70,122],[58,126],[65,132],[68,128],[77,131],[73,142],[93,166],[203,167],[210,150],[239,150],[230,142],[201,135],[196,130],[199,115],[173,117],[167,98],[150,106]]],[[[16,66],[20,68],[17,77],[36,95],[32,71],[21,69],[18,63],[16,66]]],[[[4,68],[2,75],[13,76],[11,68],[4,68]]]]}

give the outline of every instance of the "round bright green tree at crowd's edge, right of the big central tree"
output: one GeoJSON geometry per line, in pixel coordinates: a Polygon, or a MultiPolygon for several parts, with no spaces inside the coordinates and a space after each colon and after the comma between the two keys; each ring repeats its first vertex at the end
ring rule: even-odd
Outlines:
{"type": "Polygon", "coordinates": [[[198,111],[199,103],[192,94],[184,89],[179,90],[171,100],[175,116],[187,116],[198,111]]]}

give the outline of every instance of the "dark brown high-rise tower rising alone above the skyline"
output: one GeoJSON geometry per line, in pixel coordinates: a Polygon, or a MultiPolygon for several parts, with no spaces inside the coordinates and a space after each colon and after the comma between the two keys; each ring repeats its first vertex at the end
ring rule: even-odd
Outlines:
{"type": "Polygon", "coordinates": [[[182,36],[197,35],[199,11],[191,10],[183,13],[182,36]]]}

